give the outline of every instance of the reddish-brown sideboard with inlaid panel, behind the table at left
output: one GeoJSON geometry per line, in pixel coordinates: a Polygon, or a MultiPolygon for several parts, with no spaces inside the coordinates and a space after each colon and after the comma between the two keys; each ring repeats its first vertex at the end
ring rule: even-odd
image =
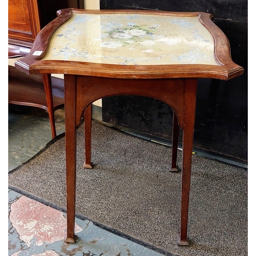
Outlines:
{"type": "MultiPolygon", "coordinates": [[[[28,55],[39,31],[62,8],[83,9],[83,0],[8,0],[8,58],[28,55]]],[[[64,106],[63,80],[27,75],[8,65],[8,102],[44,109],[56,137],[54,112],[64,106]]]]}

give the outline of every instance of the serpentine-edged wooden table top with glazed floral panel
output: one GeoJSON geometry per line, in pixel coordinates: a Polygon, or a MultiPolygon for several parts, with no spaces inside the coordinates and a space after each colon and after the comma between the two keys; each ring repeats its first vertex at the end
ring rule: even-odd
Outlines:
{"type": "Polygon", "coordinates": [[[15,62],[18,69],[118,78],[230,79],[243,73],[231,59],[228,39],[208,13],[57,13],[36,37],[30,54],[15,62]]]}

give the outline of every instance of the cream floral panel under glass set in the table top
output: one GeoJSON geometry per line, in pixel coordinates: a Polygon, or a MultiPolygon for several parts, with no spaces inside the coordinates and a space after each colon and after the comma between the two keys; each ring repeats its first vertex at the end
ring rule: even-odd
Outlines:
{"type": "Polygon", "coordinates": [[[44,60],[117,65],[218,65],[197,16],[75,14],[53,34],[44,60]]]}

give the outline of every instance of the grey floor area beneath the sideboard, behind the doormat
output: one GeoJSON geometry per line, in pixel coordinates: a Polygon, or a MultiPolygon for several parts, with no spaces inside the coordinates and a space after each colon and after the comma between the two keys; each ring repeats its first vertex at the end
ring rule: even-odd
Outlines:
{"type": "MultiPolygon", "coordinates": [[[[57,135],[65,132],[64,110],[55,112],[57,135]]],[[[26,162],[52,139],[47,112],[28,106],[9,105],[8,170],[26,162]]]]}

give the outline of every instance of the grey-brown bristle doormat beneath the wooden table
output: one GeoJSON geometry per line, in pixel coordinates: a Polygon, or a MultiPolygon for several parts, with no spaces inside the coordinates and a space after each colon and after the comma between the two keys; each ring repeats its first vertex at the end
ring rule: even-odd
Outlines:
{"type": "MultiPolygon", "coordinates": [[[[172,147],[92,123],[93,169],[84,169],[84,126],[77,130],[76,214],[163,254],[247,255],[247,169],[193,155],[190,246],[180,233],[181,172],[172,147]]],[[[178,152],[181,166],[182,152],[178,152]]],[[[65,137],[9,173],[9,187],[66,209],[65,137]]]]}

